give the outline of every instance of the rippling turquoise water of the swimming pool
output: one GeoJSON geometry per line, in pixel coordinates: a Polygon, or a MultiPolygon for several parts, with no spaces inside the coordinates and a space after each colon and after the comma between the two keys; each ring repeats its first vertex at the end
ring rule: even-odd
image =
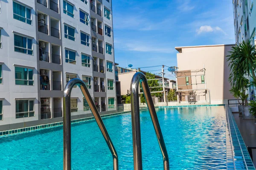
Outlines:
{"type": "MultiPolygon", "coordinates": [[[[170,169],[226,169],[224,106],[157,108],[170,169]]],[[[142,111],[143,168],[162,170],[163,160],[148,111],[142,111]]],[[[119,156],[119,169],[133,169],[131,114],[103,118],[119,156]]],[[[112,156],[94,120],[72,125],[73,170],[111,170],[112,156]]],[[[63,127],[0,138],[0,170],[61,170],[63,127]]]]}

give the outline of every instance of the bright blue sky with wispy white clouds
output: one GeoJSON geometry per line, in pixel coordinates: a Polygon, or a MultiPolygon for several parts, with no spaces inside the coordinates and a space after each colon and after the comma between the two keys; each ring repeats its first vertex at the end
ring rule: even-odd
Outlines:
{"type": "MultiPolygon", "coordinates": [[[[133,68],[176,66],[174,47],[235,42],[232,0],[113,0],[112,3],[115,62],[121,67],[126,63],[133,68]]],[[[153,73],[156,72],[159,71],[153,73]]]]}

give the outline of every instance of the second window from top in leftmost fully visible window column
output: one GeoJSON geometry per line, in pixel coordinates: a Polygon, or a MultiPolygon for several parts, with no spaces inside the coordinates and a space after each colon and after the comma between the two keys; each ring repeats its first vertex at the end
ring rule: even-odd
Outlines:
{"type": "Polygon", "coordinates": [[[14,51],[32,55],[32,39],[14,34],[14,51]]]}

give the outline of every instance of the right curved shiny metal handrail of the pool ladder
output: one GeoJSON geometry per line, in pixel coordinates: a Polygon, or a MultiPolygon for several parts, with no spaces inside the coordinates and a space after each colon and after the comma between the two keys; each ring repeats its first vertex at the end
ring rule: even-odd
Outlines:
{"type": "Polygon", "coordinates": [[[141,135],[140,135],[140,103],[139,103],[139,85],[141,83],[151,120],[154,125],[154,130],[157,135],[157,140],[163,155],[164,170],[169,170],[169,158],[166,150],[166,145],[163,140],[163,135],[157,119],[157,113],[154,108],[154,102],[148,87],[148,81],[145,75],[141,72],[134,74],[131,80],[131,125],[133,138],[133,153],[134,153],[134,170],[142,170],[142,154],[141,154],[141,135]]]}

